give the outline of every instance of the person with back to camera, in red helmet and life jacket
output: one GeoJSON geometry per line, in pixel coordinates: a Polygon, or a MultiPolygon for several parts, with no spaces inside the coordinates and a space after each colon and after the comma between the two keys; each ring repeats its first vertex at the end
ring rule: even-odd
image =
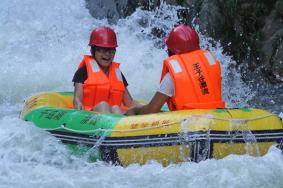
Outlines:
{"type": "Polygon", "coordinates": [[[165,102],[171,111],[224,108],[220,63],[200,49],[197,32],[175,27],[165,39],[168,58],[163,62],[160,86],[149,104],[128,109],[126,115],[157,113],[165,102]]]}

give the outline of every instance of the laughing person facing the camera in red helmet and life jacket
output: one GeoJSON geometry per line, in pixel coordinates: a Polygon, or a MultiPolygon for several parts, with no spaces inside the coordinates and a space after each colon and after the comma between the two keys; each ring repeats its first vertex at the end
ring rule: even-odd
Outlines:
{"type": "Polygon", "coordinates": [[[100,113],[122,114],[137,105],[128,83],[114,62],[117,39],[109,27],[98,27],[90,35],[90,55],[85,55],[74,74],[74,108],[100,113]]]}

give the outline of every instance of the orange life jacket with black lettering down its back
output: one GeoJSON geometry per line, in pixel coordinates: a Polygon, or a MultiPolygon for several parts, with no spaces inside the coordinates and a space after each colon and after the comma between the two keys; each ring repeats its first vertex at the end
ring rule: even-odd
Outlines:
{"type": "Polygon", "coordinates": [[[170,110],[224,108],[221,97],[220,63],[206,50],[173,55],[163,62],[161,80],[169,72],[175,95],[170,110]]]}

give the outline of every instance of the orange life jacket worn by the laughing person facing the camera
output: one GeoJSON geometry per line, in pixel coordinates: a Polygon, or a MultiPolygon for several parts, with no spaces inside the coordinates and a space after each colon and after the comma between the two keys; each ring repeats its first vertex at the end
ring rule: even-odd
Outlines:
{"type": "Polygon", "coordinates": [[[79,68],[86,66],[87,70],[87,79],[83,84],[85,110],[91,110],[102,101],[108,102],[110,106],[122,105],[125,85],[119,65],[119,63],[112,62],[107,77],[91,56],[84,56],[79,68]]]}

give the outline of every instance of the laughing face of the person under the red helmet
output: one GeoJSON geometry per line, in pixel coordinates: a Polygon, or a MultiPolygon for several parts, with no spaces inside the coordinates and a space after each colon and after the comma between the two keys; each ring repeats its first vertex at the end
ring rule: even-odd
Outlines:
{"type": "Polygon", "coordinates": [[[108,68],[115,56],[115,48],[97,47],[94,58],[102,68],[108,68]]]}

